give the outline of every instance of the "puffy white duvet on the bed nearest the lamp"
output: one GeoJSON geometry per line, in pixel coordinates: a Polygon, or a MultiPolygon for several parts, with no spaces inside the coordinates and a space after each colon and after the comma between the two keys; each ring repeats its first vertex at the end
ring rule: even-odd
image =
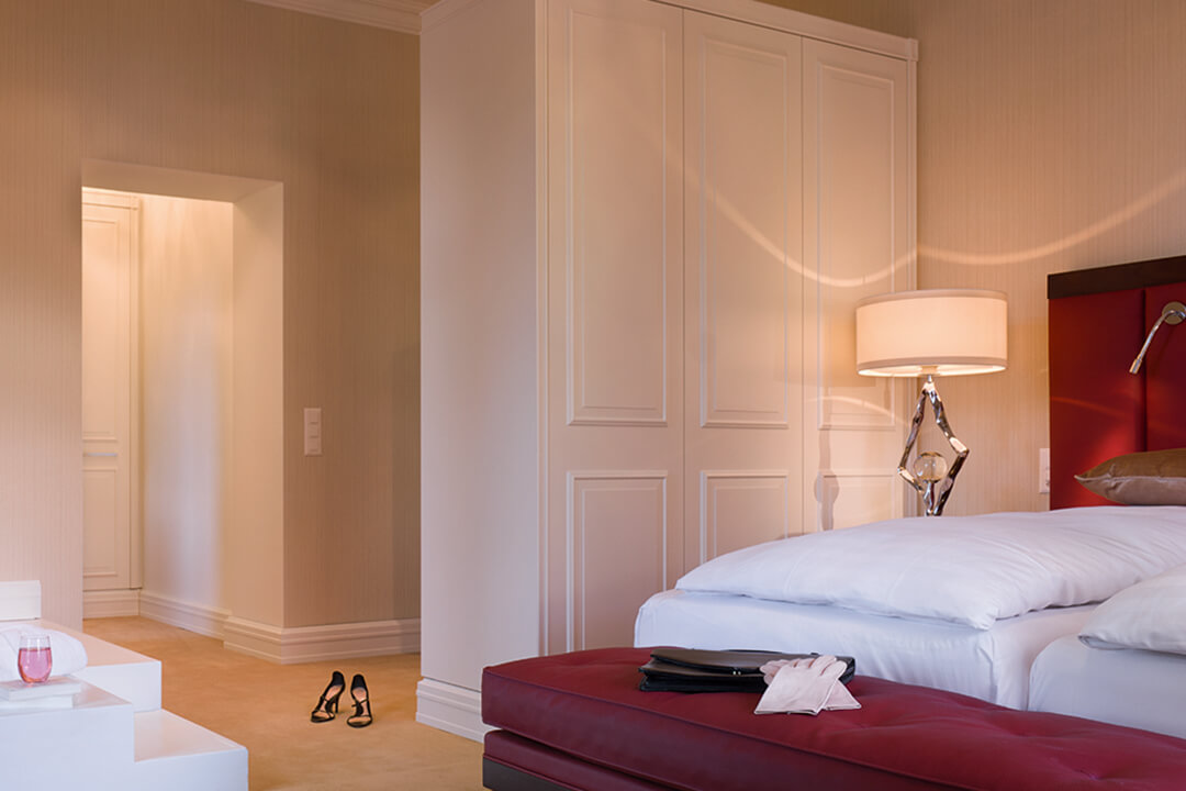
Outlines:
{"type": "Polygon", "coordinates": [[[874,522],[747,547],[676,588],[990,629],[1102,601],[1186,563],[1186,508],[1102,506],[874,522]]]}

